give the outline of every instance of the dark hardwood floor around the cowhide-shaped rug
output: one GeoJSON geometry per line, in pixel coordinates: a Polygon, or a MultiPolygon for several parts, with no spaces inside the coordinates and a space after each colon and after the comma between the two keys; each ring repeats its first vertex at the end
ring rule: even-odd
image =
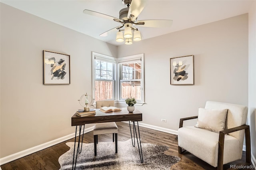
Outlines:
{"type": "MultiPolygon", "coordinates": [[[[130,128],[127,123],[116,123],[118,125],[118,141],[125,141],[131,138],[130,128]]],[[[178,141],[175,140],[176,135],[149,128],[140,127],[140,136],[142,142],[151,144],[160,144],[169,146],[169,150],[165,154],[178,156],[181,158],[180,162],[174,164],[171,170],[216,170],[200,160],[189,152],[183,154],[178,153],[178,141]]],[[[99,142],[110,142],[112,141],[112,134],[105,134],[98,136],[99,142]]],[[[2,170],[58,170],[60,164],[58,158],[69,150],[69,147],[65,144],[66,142],[74,142],[74,138],[56,144],[44,150],[30,154],[23,158],[14,160],[1,166],[2,170]]],[[[84,143],[93,142],[93,133],[88,132],[84,134],[84,143]]],[[[143,148],[142,148],[143,149],[143,148]]],[[[242,160],[231,162],[230,164],[241,164],[245,162],[245,153],[243,153],[242,160]]],[[[230,164],[224,165],[224,170],[230,168],[230,164]]]]}

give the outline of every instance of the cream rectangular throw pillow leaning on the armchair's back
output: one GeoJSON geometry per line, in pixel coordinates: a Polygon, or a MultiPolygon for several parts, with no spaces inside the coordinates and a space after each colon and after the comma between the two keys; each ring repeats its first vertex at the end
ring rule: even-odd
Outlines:
{"type": "Polygon", "coordinates": [[[195,127],[220,132],[225,128],[228,109],[198,108],[198,121],[195,127]]]}

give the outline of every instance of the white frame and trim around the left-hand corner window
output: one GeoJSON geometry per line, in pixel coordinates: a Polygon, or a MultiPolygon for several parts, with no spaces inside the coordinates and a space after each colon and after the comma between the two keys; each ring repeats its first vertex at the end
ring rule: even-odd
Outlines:
{"type": "Polygon", "coordinates": [[[96,53],[96,52],[92,52],[92,96],[95,99],[95,60],[98,59],[100,61],[106,61],[109,63],[113,63],[114,64],[114,70],[113,70],[113,99],[108,99],[108,100],[115,100],[116,99],[116,58],[108,56],[108,55],[104,55],[104,54],[100,54],[100,53],[96,53]]]}

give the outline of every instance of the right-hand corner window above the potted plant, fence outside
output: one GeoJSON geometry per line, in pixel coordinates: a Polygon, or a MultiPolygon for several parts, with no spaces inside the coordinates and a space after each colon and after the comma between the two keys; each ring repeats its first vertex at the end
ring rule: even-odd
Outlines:
{"type": "Polygon", "coordinates": [[[119,99],[134,97],[144,103],[143,54],[118,58],[119,99]]]}

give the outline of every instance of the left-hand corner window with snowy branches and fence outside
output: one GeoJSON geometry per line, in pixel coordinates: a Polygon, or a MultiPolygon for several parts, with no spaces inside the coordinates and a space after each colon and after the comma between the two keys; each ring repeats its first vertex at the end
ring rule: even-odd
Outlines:
{"type": "Polygon", "coordinates": [[[93,96],[95,101],[115,99],[116,60],[114,57],[92,53],[93,96]]]}

